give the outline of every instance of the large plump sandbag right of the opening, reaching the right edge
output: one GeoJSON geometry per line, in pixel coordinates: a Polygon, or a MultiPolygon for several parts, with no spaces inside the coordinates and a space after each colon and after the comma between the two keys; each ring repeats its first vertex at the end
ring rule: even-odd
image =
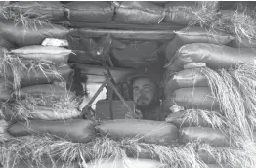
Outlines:
{"type": "Polygon", "coordinates": [[[206,63],[210,68],[231,68],[239,63],[256,63],[255,49],[235,49],[216,44],[192,43],[182,46],[173,61],[165,65],[168,70],[180,71],[186,63],[206,63]]]}

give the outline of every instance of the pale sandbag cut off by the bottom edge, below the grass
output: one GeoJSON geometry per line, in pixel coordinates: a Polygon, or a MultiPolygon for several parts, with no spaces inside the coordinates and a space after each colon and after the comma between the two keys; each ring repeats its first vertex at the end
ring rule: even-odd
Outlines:
{"type": "Polygon", "coordinates": [[[162,163],[150,159],[101,159],[87,163],[88,168],[167,168],[162,163]]]}

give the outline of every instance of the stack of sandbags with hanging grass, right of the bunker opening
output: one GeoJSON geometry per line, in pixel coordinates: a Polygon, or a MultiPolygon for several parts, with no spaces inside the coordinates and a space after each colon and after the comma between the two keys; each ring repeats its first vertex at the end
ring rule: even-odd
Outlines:
{"type": "Polygon", "coordinates": [[[247,107],[253,96],[245,94],[245,88],[255,93],[255,86],[250,85],[255,81],[255,50],[251,45],[237,45],[238,37],[224,31],[194,26],[175,34],[165,50],[163,108],[172,111],[166,122],[179,128],[180,144],[197,144],[195,154],[203,162],[235,167],[227,155],[217,156],[207,147],[219,147],[219,152],[254,152],[254,124],[247,119],[255,117],[254,107],[247,107]],[[241,118],[243,126],[237,123],[241,118]],[[244,147],[249,142],[252,146],[244,147]]]}

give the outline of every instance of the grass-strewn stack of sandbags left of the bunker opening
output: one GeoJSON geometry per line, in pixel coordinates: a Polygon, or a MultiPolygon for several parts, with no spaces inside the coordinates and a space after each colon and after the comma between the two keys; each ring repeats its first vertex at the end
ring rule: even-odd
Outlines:
{"type": "Polygon", "coordinates": [[[78,100],[66,88],[73,75],[67,64],[71,50],[65,48],[69,29],[49,22],[63,18],[64,6],[60,2],[5,3],[1,14],[1,119],[13,123],[79,115],[78,100]],[[12,20],[22,15],[23,19],[12,20]]]}

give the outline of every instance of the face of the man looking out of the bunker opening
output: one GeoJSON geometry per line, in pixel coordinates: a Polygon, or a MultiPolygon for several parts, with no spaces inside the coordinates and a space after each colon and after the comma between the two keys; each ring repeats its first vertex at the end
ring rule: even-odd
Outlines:
{"type": "Polygon", "coordinates": [[[150,105],[155,95],[155,84],[148,78],[137,78],[133,82],[133,101],[138,106],[150,105]]]}

